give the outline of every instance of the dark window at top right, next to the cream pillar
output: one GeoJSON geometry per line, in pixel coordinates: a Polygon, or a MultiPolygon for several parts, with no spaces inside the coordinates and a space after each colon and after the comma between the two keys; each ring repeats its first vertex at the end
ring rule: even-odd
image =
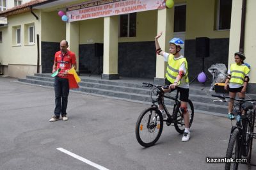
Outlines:
{"type": "Polygon", "coordinates": [[[218,0],[216,29],[230,29],[232,0],[218,0]]]}

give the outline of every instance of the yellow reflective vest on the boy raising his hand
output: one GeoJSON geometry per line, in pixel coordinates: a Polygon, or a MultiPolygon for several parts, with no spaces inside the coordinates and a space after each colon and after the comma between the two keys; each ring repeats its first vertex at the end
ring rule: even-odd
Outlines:
{"type": "MultiPolygon", "coordinates": [[[[172,54],[170,54],[168,57],[166,78],[171,83],[173,83],[176,80],[176,77],[179,74],[180,65],[182,65],[182,63],[185,63],[185,66],[186,66],[185,79],[186,79],[186,82],[189,82],[189,80],[188,80],[188,62],[187,62],[186,58],[174,59],[174,56],[172,54]]],[[[179,85],[179,84],[180,84],[180,81],[177,82],[177,85],[179,85]]]]}

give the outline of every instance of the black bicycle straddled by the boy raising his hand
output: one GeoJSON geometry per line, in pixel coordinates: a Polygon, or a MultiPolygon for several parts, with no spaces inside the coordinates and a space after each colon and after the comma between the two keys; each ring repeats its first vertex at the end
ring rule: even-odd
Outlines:
{"type": "MultiPolygon", "coordinates": [[[[151,107],[145,109],[141,112],[137,123],[136,123],[136,139],[144,147],[149,147],[154,145],[159,139],[163,131],[163,122],[166,122],[167,126],[174,125],[177,132],[180,134],[184,133],[184,118],[182,112],[180,111],[180,100],[179,91],[175,97],[166,96],[163,93],[163,88],[168,88],[168,86],[157,86],[155,84],[143,82],[144,87],[150,89],[150,98],[152,99],[151,107]],[[152,95],[156,95],[156,99],[152,98],[152,95]],[[163,98],[169,98],[173,100],[173,109],[170,113],[164,104],[163,98]],[[167,118],[163,120],[163,115],[159,111],[159,105],[162,104],[167,118]]],[[[189,112],[189,127],[191,127],[194,118],[194,106],[191,100],[188,101],[188,112],[189,112]]]]}

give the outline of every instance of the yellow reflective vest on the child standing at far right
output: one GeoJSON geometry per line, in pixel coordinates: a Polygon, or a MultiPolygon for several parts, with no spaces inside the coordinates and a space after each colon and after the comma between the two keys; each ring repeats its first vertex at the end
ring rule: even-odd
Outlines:
{"type": "Polygon", "coordinates": [[[237,65],[236,63],[230,66],[231,79],[230,82],[237,84],[244,83],[244,77],[250,72],[250,69],[246,65],[237,65]]]}

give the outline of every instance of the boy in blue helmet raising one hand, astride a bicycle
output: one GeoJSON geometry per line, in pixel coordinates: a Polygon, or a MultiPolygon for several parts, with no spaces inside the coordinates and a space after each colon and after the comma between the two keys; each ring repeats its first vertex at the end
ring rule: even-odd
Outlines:
{"type": "MultiPolygon", "coordinates": [[[[184,42],[180,38],[172,38],[170,40],[169,52],[163,52],[159,46],[158,38],[162,35],[159,33],[155,38],[156,52],[158,55],[163,56],[164,61],[168,62],[166,68],[166,84],[169,85],[168,89],[163,89],[164,93],[168,93],[177,89],[180,93],[180,110],[182,111],[185,130],[181,139],[182,142],[189,141],[189,112],[188,112],[188,97],[189,97],[189,80],[188,80],[188,62],[184,56],[180,55],[180,50],[184,47],[184,42]]],[[[166,117],[163,105],[159,105],[159,110],[166,117]]]]}

